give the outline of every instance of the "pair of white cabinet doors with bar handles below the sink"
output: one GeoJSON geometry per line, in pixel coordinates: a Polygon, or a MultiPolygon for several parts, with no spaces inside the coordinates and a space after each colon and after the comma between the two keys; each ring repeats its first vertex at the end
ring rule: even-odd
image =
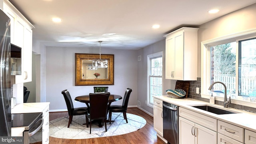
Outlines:
{"type": "Polygon", "coordinates": [[[180,144],[217,144],[217,132],[179,117],[180,144]]]}

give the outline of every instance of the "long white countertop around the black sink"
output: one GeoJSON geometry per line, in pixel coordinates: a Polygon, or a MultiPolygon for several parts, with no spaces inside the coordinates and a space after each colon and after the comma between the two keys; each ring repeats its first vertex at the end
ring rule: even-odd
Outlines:
{"type": "Polygon", "coordinates": [[[153,96],[154,98],[157,98],[159,100],[169,102],[171,104],[175,104],[177,106],[180,106],[182,108],[186,108],[188,110],[192,110],[194,112],[197,112],[199,114],[204,114],[206,116],[215,118],[217,120],[221,120],[223,122],[227,122],[230,124],[234,124],[236,126],[239,126],[241,128],[245,128],[247,130],[251,130],[253,132],[256,132],[256,114],[251,112],[246,112],[243,110],[237,110],[234,108],[224,108],[223,106],[217,105],[217,104],[209,104],[208,102],[203,102],[199,100],[194,100],[192,98],[170,98],[167,95],[166,96],[153,96]],[[200,110],[198,108],[194,108],[192,106],[202,106],[202,105],[208,105],[216,108],[220,108],[222,110],[228,110],[231,112],[238,112],[236,114],[214,114],[211,112],[207,112],[205,110],[200,110]]]}

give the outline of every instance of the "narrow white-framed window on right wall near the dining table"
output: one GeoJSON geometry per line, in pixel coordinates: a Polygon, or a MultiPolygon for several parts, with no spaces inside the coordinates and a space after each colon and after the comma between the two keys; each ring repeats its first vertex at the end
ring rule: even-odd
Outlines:
{"type": "Polygon", "coordinates": [[[153,106],[153,96],[162,95],[162,52],[148,55],[147,104],[153,106]]]}

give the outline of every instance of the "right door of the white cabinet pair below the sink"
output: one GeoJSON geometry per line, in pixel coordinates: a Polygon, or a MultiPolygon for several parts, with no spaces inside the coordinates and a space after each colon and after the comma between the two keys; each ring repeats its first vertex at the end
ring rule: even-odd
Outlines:
{"type": "Polygon", "coordinates": [[[217,144],[217,132],[195,124],[196,144],[217,144]]]}

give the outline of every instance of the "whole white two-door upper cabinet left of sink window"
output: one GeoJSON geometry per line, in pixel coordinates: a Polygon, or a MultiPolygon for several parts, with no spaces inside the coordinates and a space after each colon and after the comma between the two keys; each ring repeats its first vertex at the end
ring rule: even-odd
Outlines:
{"type": "Polygon", "coordinates": [[[183,27],[166,37],[166,79],[197,80],[197,31],[183,27]]]}

